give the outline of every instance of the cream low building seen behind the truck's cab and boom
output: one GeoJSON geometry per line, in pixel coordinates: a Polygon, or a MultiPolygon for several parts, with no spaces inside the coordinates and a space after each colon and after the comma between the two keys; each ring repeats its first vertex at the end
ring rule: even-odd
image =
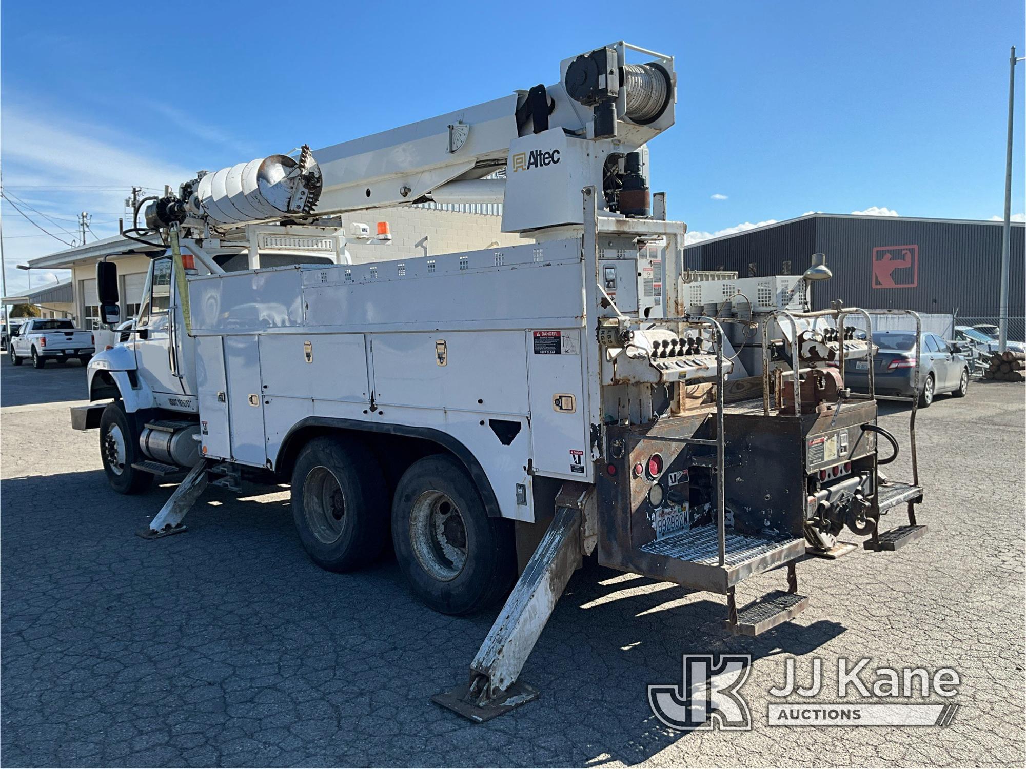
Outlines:
{"type": "MultiPolygon", "coordinates": [[[[348,243],[346,247],[354,262],[470,251],[523,242],[516,235],[501,232],[502,210],[498,205],[441,207],[428,204],[379,208],[348,213],[342,216],[342,220],[346,232],[349,225],[356,221],[367,224],[371,233],[376,232],[376,222],[388,221],[392,232],[392,243],[389,245],[348,243]]],[[[163,250],[160,248],[158,252],[163,250]]],[[[139,313],[146,272],[150,266],[147,252],[145,246],[118,235],[32,259],[29,267],[33,270],[71,270],[72,315],[82,328],[96,329],[100,328],[96,262],[105,257],[117,261],[121,317],[132,318],[139,313]]]]}

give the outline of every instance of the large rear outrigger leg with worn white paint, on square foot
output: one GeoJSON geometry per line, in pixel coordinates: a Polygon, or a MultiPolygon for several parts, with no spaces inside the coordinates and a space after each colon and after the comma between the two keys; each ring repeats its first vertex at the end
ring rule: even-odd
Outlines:
{"type": "Polygon", "coordinates": [[[590,495],[574,498],[566,493],[569,485],[557,496],[555,518],[470,663],[468,683],[436,694],[433,701],[481,723],[539,696],[518,677],[585,550],[590,495]]]}

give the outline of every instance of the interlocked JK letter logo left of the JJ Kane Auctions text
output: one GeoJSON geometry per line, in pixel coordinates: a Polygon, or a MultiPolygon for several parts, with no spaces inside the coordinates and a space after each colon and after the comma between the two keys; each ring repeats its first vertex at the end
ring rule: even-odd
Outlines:
{"type": "Polygon", "coordinates": [[[679,685],[649,685],[648,705],[671,729],[747,730],[752,728],[748,702],[739,690],[748,679],[751,654],[684,654],[679,685]]]}

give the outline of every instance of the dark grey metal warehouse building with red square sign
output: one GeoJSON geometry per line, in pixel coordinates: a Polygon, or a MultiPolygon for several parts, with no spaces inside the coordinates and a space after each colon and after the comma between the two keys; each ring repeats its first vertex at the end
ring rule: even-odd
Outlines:
{"type": "MultiPolygon", "coordinates": [[[[1026,225],[1012,225],[1009,315],[1026,315],[1026,225]]],[[[825,253],[832,280],[813,289],[813,308],[833,298],[870,310],[899,308],[965,319],[998,314],[1001,222],[811,213],[696,243],[692,270],[738,275],[800,275],[825,253]]],[[[1013,323],[1012,327],[1022,323],[1013,323]]]]}

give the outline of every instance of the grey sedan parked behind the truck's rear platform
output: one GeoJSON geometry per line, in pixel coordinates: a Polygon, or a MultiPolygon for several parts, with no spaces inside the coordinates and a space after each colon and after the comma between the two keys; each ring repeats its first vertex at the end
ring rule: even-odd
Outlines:
{"type": "MultiPolygon", "coordinates": [[[[916,392],[915,332],[876,331],[873,342],[879,348],[873,370],[876,395],[918,397],[919,406],[926,408],[936,395],[952,393],[961,398],[969,391],[970,364],[959,345],[947,342],[934,333],[922,334],[916,392]]],[[[844,381],[853,390],[868,392],[869,361],[847,361],[844,381]]]]}

